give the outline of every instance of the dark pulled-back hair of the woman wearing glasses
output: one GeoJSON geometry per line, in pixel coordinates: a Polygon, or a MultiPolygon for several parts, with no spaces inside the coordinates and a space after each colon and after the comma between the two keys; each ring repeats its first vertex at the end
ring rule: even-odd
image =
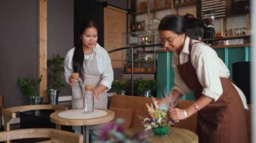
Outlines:
{"type": "Polygon", "coordinates": [[[186,19],[179,15],[166,15],[160,21],[158,30],[170,30],[175,34],[186,33],[186,19]]]}

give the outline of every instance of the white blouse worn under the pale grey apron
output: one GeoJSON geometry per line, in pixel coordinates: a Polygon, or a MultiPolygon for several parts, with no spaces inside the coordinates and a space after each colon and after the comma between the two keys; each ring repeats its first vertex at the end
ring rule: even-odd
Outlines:
{"type": "MultiPolygon", "coordinates": [[[[65,57],[65,80],[67,83],[69,83],[69,77],[71,76],[71,73],[73,73],[73,54],[74,54],[75,48],[71,48],[65,57]]],[[[101,85],[104,85],[108,87],[108,90],[111,88],[113,79],[114,79],[114,73],[113,68],[111,65],[110,57],[108,56],[108,52],[104,48],[102,48],[98,43],[93,48],[92,55],[85,56],[84,60],[90,60],[93,59],[93,56],[96,56],[97,60],[97,66],[99,73],[102,74],[102,80],[100,81],[101,85]],[[88,59],[90,58],[90,59],[88,59]]]]}

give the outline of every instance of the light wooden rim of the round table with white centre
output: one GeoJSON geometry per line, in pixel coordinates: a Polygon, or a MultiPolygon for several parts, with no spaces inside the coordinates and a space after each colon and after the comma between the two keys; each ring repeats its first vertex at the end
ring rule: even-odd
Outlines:
{"type": "MultiPolygon", "coordinates": [[[[61,110],[61,111],[55,111],[50,115],[50,121],[59,124],[59,125],[65,125],[65,126],[88,126],[88,125],[96,125],[96,124],[103,124],[106,122],[110,122],[115,118],[114,111],[108,110],[108,109],[96,109],[101,111],[106,111],[106,115],[102,115],[100,117],[86,117],[81,119],[74,119],[73,117],[65,118],[60,117],[59,113],[66,112],[66,111],[78,111],[81,112],[81,109],[68,109],[68,110],[61,110]]],[[[82,113],[82,112],[81,112],[82,113]]],[[[84,115],[90,115],[89,113],[83,113],[84,115]]]]}

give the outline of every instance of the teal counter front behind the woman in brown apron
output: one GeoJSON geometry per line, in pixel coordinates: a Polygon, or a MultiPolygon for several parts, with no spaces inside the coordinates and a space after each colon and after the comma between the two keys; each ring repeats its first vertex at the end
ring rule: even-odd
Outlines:
{"type": "MultiPolygon", "coordinates": [[[[218,56],[224,61],[230,70],[232,78],[232,64],[234,62],[250,61],[251,48],[249,46],[236,46],[225,48],[214,48],[218,56]]],[[[164,91],[170,91],[174,86],[174,71],[172,68],[172,52],[157,52],[157,83],[158,97],[164,97],[164,91]]],[[[194,100],[193,93],[183,96],[184,100],[194,100]]]]}

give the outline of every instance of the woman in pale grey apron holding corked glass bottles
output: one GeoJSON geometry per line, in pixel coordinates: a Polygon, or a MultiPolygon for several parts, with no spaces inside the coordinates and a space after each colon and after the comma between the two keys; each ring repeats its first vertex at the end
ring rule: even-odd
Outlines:
{"type": "MultiPolygon", "coordinates": [[[[83,85],[92,85],[94,107],[106,109],[108,97],[106,91],[113,82],[113,68],[110,57],[98,43],[98,30],[94,21],[82,25],[79,31],[79,42],[71,48],[65,57],[65,80],[72,87],[76,79],[72,73],[79,73],[83,85]]],[[[83,99],[72,97],[72,108],[83,108],[83,99]]],[[[99,127],[99,126],[98,126],[99,127]]],[[[94,132],[95,134],[98,134],[94,132]]]]}

